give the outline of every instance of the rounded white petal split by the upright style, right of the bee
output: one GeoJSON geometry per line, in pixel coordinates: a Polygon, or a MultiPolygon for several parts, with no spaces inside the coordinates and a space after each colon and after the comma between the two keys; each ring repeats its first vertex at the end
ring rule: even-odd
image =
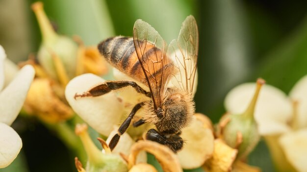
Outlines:
{"type": "MultiPolygon", "coordinates": [[[[224,102],[227,111],[232,114],[243,113],[250,104],[255,89],[256,84],[247,83],[230,90],[224,102]]],[[[291,115],[292,107],[286,94],[274,86],[262,86],[255,109],[255,119],[259,125],[259,132],[262,134],[272,133],[277,128],[271,128],[268,120],[278,123],[278,125],[286,125],[291,115]]],[[[284,129],[284,127],[282,128],[284,129]]],[[[283,130],[275,131],[281,132],[283,130]]]]}

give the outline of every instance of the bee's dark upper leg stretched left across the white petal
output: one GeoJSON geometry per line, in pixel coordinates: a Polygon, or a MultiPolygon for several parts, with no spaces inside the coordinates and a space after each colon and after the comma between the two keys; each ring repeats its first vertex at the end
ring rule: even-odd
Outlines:
{"type": "Polygon", "coordinates": [[[137,85],[133,81],[109,81],[105,82],[99,86],[95,86],[91,88],[90,90],[75,95],[75,99],[77,97],[96,97],[101,96],[103,94],[106,94],[112,90],[120,89],[126,86],[132,86],[138,93],[145,94],[147,97],[151,97],[151,92],[145,91],[141,86],[137,85]]]}

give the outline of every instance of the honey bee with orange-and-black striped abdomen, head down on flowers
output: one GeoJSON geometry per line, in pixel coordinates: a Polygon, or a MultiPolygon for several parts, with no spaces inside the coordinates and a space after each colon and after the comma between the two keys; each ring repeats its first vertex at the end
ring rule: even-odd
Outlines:
{"type": "Polygon", "coordinates": [[[178,39],[169,46],[150,24],[137,20],[133,38],[109,38],[100,43],[98,49],[108,63],[150,90],[146,91],[133,81],[109,81],[75,95],[75,98],[101,96],[132,86],[150,98],[150,101],[138,103],[132,108],[111,139],[110,149],[115,148],[137,110],[144,108],[147,113],[133,126],[144,123],[155,125],[156,129],[148,130],[146,139],[179,151],[183,147],[179,136],[181,129],[188,125],[195,109],[193,87],[197,70],[198,28],[194,17],[188,16],[183,21],[178,39]]]}

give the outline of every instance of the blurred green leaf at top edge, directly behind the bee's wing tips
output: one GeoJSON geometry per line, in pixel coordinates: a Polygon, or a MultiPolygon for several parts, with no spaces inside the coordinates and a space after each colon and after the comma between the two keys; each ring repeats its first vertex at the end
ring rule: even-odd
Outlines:
{"type": "Polygon", "coordinates": [[[178,38],[184,19],[195,15],[193,1],[109,0],[107,3],[117,34],[132,36],[134,21],[141,19],[151,24],[167,43],[178,38]]]}

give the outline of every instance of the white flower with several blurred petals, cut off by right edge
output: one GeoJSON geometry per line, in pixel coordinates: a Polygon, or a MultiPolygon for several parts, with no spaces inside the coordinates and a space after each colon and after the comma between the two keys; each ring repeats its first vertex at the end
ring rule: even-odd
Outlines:
{"type": "MultiPolygon", "coordinates": [[[[253,95],[255,84],[233,88],[225,99],[230,113],[242,113],[253,95]]],[[[307,171],[307,76],[290,91],[265,85],[255,109],[259,133],[264,136],[279,171],[307,171]],[[297,105],[295,103],[297,102],[297,105]]]]}

